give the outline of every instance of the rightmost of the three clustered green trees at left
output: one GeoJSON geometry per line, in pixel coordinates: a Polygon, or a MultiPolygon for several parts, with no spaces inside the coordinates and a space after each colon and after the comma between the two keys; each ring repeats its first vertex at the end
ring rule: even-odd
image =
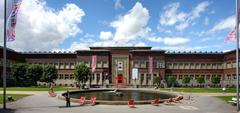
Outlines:
{"type": "Polygon", "coordinates": [[[43,66],[41,82],[53,83],[57,79],[57,69],[54,65],[43,66]]]}

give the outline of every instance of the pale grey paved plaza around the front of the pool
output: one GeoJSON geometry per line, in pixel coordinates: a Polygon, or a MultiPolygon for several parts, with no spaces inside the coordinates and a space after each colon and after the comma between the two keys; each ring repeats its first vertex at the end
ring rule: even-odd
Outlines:
{"type": "MultiPolygon", "coordinates": [[[[17,92],[15,92],[17,93],[17,92]]],[[[58,92],[60,95],[61,92],[58,92]]],[[[195,94],[192,100],[183,100],[174,105],[152,106],[136,105],[129,108],[127,105],[96,105],[79,106],[71,103],[70,108],[65,107],[65,101],[48,97],[46,92],[35,92],[32,96],[19,101],[8,103],[8,111],[1,113],[236,113],[235,107],[209,95],[195,94]]]]}

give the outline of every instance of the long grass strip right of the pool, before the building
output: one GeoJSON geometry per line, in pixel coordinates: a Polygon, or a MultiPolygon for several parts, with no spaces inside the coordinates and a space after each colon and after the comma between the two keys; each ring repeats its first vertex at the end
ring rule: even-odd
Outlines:
{"type": "MultiPolygon", "coordinates": [[[[188,93],[223,93],[222,88],[160,88],[160,90],[188,93]]],[[[235,93],[236,88],[226,88],[226,93],[235,93]]]]}

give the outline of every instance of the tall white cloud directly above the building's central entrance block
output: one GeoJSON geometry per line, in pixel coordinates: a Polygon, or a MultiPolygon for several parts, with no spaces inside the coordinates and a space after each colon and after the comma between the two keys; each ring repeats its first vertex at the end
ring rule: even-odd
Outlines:
{"type": "Polygon", "coordinates": [[[110,23],[110,26],[116,29],[113,40],[129,42],[143,37],[151,30],[147,27],[149,18],[148,10],[137,2],[127,14],[110,23]]]}

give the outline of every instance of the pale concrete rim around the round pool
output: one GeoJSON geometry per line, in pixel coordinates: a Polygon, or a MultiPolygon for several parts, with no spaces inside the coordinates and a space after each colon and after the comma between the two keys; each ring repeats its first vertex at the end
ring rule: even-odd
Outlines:
{"type": "MultiPolygon", "coordinates": [[[[88,89],[88,90],[74,90],[74,91],[70,91],[70,93],[77,93],[77,92],[85,92],[85,91],[108,91],[108,90],[115,90],[115,88],[104,88],[104,89],[88,89]]],[[[164,93],[167,95],[171,95],[172,97],[175,97],[177,95],[177,93],[174,92],[165,92],[165,91],[160,91],[160,90],[151,90],[151,89],[139,89],[139,88],[119,88],[119,90],[136,90],[136,91],[144,91],[144,92],[151,92],[151,93],[164,93]]],[[[65,100],[65,97],[63,96],[63,94],[65,94],[66,92],[62,93],[62,95],[58,96],[58,99],[60,100],[65,100]]],[[[160,99],[160,103],[163,103],[166,99],[160,99]]],[[[79,103],[80,99],[76,99],[76,98],[70,98],[71,102],[74,103],[79,103]]],[[[86,99],[85,103],[89,104],[90,103],[90,99],[86,99]]],[[[151,104],[151,100],[136,100],[134,102],[136,105],[138,104],[151,104]]],[[[96,104],[103,104],[103,105],[127,105],[128,101],[106,101],[106,100],[96,100],[96,104]]]]}

